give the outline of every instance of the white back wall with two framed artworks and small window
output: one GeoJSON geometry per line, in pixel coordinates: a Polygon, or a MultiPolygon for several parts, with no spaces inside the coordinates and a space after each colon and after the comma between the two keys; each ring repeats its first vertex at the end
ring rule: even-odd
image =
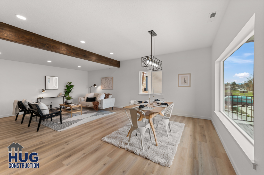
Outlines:
{"type": "MultiPolygon", "coordinates": [[[[211,48],[156,57],[163,64],[163,97],[175,102],[173,113],[186,117],[211,119],[208,109],[211,106],[211,48]],[[178,74],[181,73],[191,73],[191,87],[178,87],[178,74]]],[[[139,71],[147,70],[141,67],[141,58],[121,61],[120,68],[88,72],[88,87],[95,83],[97,87],[92,87],[92,92],[111,93],[116,98],[116,107],[128,106],[130,100],[148,100],[148,96],[138,94],[139,71]],[[114,77],[114,89],[102,90],[101,77],[114,77]]],[[[155,95],[155,98],[162,98],[162,96],[155,95]]]]}

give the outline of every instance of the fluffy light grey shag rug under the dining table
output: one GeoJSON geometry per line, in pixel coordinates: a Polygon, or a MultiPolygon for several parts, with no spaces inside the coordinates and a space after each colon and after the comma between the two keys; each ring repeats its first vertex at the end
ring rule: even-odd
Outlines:
{"type": "Polygon", "coordinates": [[[167,137],[164,125],[159,122],[158,128],[155,127],[157,135],[158,146],[156,146],[153,132],[151,134],[152,141],[149,137],[148,129],[144,135],[144,152],[142,151],[140,136],[136,131],[133,131],[129,146],[128,138],[126,137],[131,124],[128,124],[115,132],[107,135],[101,140],[112,144],[119,148],[124,148],[130,152],[135,153],[138,156],[149,159],[152,162],[160,164],[161,166],[171,166],[174,156],[176,154],[178,144],[180,143],[181,135],[184,129],[184,123],[170,122],[172,132],[169,131],[169,138],[167,137]]]}

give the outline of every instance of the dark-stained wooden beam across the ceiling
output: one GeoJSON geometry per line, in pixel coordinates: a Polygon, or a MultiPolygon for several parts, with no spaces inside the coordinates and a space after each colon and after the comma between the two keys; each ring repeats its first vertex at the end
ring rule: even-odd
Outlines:
{"type": "Polygon", "coordinates": [[[108,66],[120,67],[120,62],[117,60],[107,58],[105,56],[101,56],[99,54],[92,53],[3,22],[0,22],[0,39],[108,66]]]}

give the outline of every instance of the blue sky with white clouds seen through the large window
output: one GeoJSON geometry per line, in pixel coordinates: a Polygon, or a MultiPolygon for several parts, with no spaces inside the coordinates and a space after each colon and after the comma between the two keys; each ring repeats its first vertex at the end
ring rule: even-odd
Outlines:
{"type": "Polygon", "coordinates": [[[254,42],[244,43],[224,61],[224,83],[242,83],[254,73],[254,42]]]}

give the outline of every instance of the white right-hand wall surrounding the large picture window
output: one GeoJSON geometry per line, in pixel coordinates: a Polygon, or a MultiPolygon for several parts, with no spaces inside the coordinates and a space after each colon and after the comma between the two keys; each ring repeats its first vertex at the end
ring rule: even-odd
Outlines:
{"type": "Polygon", "coordinates": [[[263,118],[263,106],[264,106],[264,94],[262,89],[264,86],[263,74],[264,74],[264,1],[259,0],[231,0],[224,18],[219,27],[218,33],[215,37],[212,45],[212,60],[211,60],[211,116],[212,122],[218,131],[219,137],[225,146],[227,153],[229,154],[230,161],[233,163],[233,167],[237,170],[238,174],[264,174],[264,118],[263,118]],[[219,99],[220,92],[215,93],[215,84],[219,84],[220,75],[215,72],[215,61],[229,46],[245,24],[255,13],[255,42],[254,42],[254,160],[258,164],[257,169],[252,168],[252,164],[247,161],[245,154],[239,147],[235,139],[228,128],[226,128],[220,119],[215,115],[214,111],[219,111],[218,101],[215,103],[215,99],[219,99]]]}

